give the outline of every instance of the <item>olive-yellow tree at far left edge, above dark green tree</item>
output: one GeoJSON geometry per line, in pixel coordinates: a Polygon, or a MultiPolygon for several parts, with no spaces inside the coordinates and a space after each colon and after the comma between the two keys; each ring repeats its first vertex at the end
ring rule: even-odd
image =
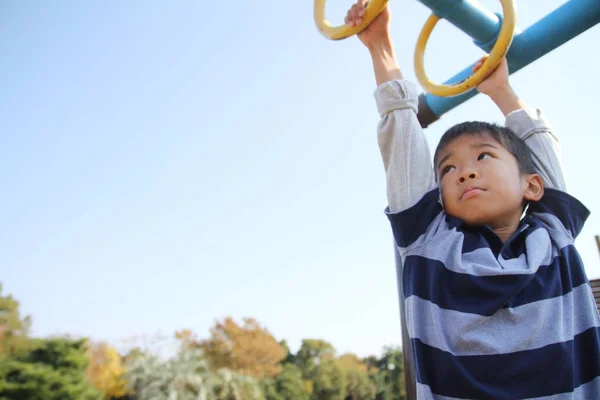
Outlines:
{"type": "Polygon", "coordinates": [[[27,351],[30,327],[31,317],[21,318],[19,302],[3,295],[0,283],[0,360],[27,351]]]}

